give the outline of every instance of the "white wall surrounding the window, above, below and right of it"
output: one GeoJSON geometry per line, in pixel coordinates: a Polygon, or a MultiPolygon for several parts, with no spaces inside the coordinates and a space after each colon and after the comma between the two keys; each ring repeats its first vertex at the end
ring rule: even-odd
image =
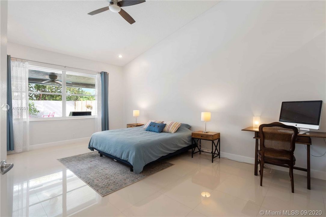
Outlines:
{"type": "MultiPolygon", "coordinates": [[[[123,128],[123,75],[122,67],[93,60],[72,57],[8,42],[11,57],[109,72],[109,126],[123,128]]],[[[71,70],[71,69],[70,69],[71,70]]],[[[90,137],[95,132],[95,119],[46,120],[30,122],[30,145],[90,137]]],[[[44,145],[39,145],[44,147],[44,145]]],[[[33,147],[31,147],[33,149],[33,147]]]]}

